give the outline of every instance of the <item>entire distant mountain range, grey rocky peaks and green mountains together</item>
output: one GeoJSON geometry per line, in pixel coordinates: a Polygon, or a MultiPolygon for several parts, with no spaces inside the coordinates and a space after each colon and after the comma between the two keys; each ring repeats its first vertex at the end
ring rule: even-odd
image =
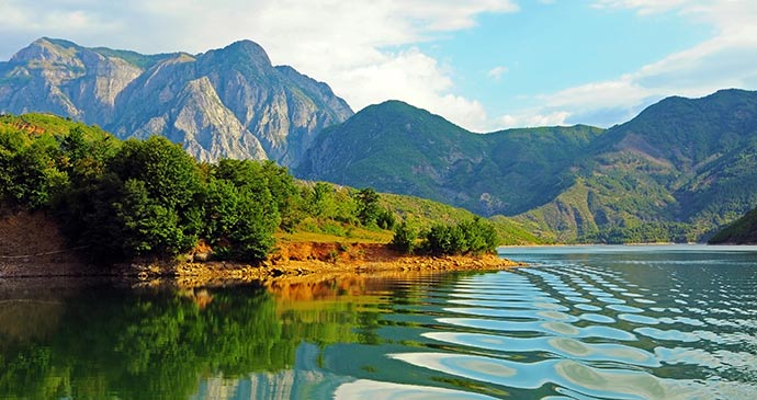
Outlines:
{"type": "Polygon", "coordinates": [[[510,216],[556,241],[700,241],[757,207],[757,92],[743,90],[665,99],[609,129],[473,134],[398,101],[353,115],[249,41],[147,56],[42,38],[0,62],[0,112],[32,111],[510,216]]]}

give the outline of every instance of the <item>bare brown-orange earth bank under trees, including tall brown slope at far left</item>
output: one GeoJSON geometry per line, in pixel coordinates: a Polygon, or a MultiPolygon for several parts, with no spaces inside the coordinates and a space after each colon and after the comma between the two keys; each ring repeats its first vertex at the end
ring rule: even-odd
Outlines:
{"type": "MultiPolygon", "coordinates": [[[[89,265],[67,245],[58,227],[44,213],[0,215],[0,278],[30,276],[137,276],[143,281],[174,281],[180,286],[224,282],[268,281],[306,275],[337,276],[407,272],[501,270],[519,263],[496,255],[413,256],[380,243],[337,243],[280,240],[268,261],[260,265],[230,262],[143,261],[109,270],[89,265]]],[[[203,259],[210,248],[200,245],[187,260],[203,259]]]]}

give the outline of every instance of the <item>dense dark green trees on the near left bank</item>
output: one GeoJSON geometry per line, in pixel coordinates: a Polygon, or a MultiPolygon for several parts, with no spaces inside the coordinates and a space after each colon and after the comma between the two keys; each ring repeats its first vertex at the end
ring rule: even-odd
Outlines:
{"type": "Polygon", "coordinates": [[[278,227],[297,222],[300,188],[272,162],[200,164],[163,137],[122,142],[60,118],[2,118],[2,204],[57,215],[98,260],[171,256],[204,239],[216,258],[255,262],[278,227]]]}

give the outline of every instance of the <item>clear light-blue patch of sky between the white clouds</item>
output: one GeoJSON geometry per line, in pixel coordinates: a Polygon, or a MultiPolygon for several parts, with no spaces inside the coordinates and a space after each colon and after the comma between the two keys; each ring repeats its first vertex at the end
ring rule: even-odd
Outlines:
{"type": "MultiPolygon", "coordinates": [[[[587,2],[531,1],[521,2],[519,12],[481,15],[475,27],[420,48],[449,65],[461,93],[489,114],[506,114],[538,107],[539,94],[639,70],[710,38],[712,31],[675,12],[640,15],[587,2]]],[[[607,126],[628,117],[625,110],[596,110],[567,123],[607,126]]]]}

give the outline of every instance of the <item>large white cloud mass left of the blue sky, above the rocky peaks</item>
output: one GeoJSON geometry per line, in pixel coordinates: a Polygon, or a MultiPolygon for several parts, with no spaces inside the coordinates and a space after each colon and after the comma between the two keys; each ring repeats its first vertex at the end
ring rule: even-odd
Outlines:
{"type": "Polygon", "coordinates": [[[402,48],[472,27],[483,13],[517,10],[511,0],[4,0],[0,36],[15,41],[0,44],[0,57],[39,36],[140,53],[202,53],[249,38],[355,110],[398,99],[478,128],[483,105],[456,94],[436,59],[402,48]]]}

